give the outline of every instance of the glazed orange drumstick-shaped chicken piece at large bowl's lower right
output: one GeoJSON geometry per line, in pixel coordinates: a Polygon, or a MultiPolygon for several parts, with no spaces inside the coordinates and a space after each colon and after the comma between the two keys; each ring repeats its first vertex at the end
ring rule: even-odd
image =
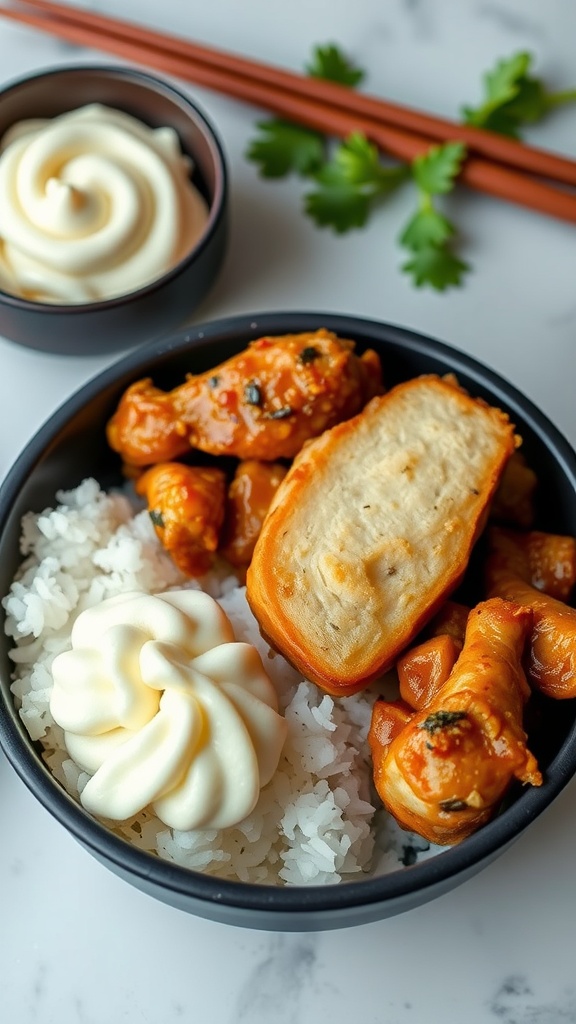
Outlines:
{"type": "Polygon", "coordinates": [[[532,612],[498,598],[468,616],[462,652],[421,711],[377,700],[369,732],[374,782],[399,823],[429,840],[459,843],[495,813],[516,777],[540,785],[526,746],[530,688],[522,654],[532,612]]]}

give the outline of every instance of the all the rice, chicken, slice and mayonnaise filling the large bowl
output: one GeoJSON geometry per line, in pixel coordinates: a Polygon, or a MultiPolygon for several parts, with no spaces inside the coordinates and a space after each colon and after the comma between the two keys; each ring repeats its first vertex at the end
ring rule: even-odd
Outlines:
{"type": "Polygon", "coordinates": [[[106,425],[125,485],[25,517],[14,699],[58,781],[142,849],[333,884],[541,784],[525,709],[576,695],[576,541],[534,528],[504,412],[385,376],[321,330],[136,381],[106,425]]]}

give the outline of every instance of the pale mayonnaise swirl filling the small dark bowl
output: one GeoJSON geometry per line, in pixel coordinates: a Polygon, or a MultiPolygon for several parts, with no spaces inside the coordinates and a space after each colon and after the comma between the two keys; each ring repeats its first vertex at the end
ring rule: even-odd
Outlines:
{"type": "Polygon", "coordinates": [[[174,266],[208,218],[172,128],[91,103],[0,143],[0,288],[40,302],[124,295],[174,266]]]}

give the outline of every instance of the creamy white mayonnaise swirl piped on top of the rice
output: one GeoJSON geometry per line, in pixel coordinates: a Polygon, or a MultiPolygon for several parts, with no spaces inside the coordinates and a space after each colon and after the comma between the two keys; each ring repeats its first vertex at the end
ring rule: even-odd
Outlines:
{"type": "Polygon", "coordinates": [[[256,649],[213,598],[122,594],[81,612],[53,662],[50,711],[91,777],[92,814],[152,805],[168,826],[225,828],[274,775],[287,724],[256,649]]]}

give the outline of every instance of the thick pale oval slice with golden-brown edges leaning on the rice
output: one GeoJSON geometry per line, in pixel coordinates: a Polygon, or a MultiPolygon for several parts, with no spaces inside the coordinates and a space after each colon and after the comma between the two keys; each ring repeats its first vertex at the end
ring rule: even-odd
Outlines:
{"type": "Polygon", "coordinates": [[[516,443],[501,411],[429,375],[306,444],[247,575],[274,646],[333,694],[376,678],[459,583],[516,443]]]}

